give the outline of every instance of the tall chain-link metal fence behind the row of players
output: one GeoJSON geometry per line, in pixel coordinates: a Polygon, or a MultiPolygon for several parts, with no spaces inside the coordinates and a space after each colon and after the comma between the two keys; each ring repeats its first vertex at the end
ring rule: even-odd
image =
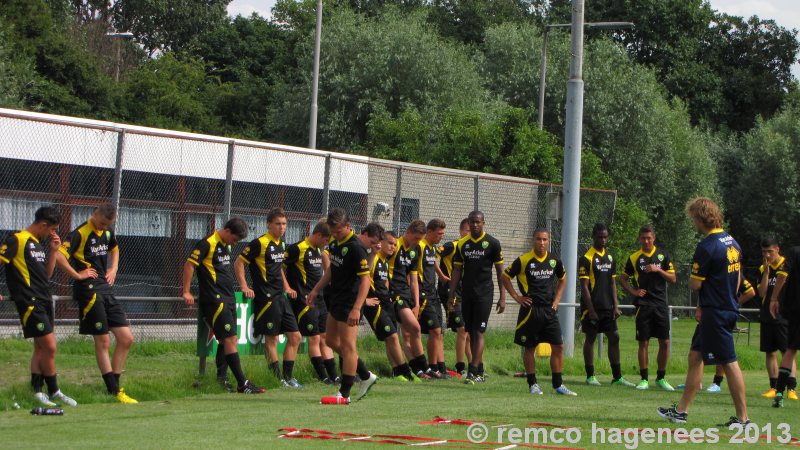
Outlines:
{"type": "MultiPolygon", "coordinates": [[[[182,266],[197,240],[230,216],[245,219],[247,240],[255,238],[266,232],[266,212],[275,206],[287,212],[290,243],[333,207],[345,208],[356,229],[376,221],[402,231],[416,218],[442,218],[446,239],[456,239],[459,222],[481,209],[509,263],[530,249],[537,227],[551,229],[553,253],[560,250],[560,186],[521,178],[9,109],[0,109],[0,167],[0,239],[27,227],[45,204],[60,208],[62,237],[95,205],[118,207],[118,296],[178,297],[182,266]]],[[[612,221],[616,193],[581,195],[580,236],[587,247],[592,225],[612,221]]],[[[2,282],[0,292],[7,292],[2,282]]],[[[58,271],[53,292],[70,294],[58,271]]],[[[196,317],[194,308],[175,302],[125,304],[142,320],[196,317]]],[[[493,316],[492,327],[515,324],[510,305],[493,316]]],[[[76,318],[76,304],[57,302],[56,317],[76,318]]],[[[0,303],[0,324],[12,319],[13,305],[0,303]]],[[[140,337],[172,333],[165,326],[140,337]]]]}

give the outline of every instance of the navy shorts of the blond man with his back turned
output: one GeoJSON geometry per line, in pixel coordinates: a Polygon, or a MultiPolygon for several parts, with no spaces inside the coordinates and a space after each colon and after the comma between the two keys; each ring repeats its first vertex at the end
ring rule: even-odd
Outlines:
{"type": "Polygon", "coordinates": [[[728,364],[736,361],[733,329],[736,311],[703,308],[700,323],[692,336],[691,349],[700,352],[706,365],[728,364]]]}

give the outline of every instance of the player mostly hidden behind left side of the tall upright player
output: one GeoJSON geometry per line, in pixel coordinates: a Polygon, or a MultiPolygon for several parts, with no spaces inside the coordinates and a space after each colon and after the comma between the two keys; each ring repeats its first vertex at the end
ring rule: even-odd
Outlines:
{"type": "MultiPolygon", "coordinates": [[[[464,218],[458,227],[459,239],[469,234],[469,219],[464,218]]],[[[456,253],[458,240],[446,242],[439,246],[439,299],[447,301],[450,298],[450,277],[453,274],[453,255],[456,253]]],[[[445,307],[447,315],[447,328],[456,332],[456,372],[461,376],[467,375],[467,366],[464,357],[469,361],[472,359],[472,351],[469,348],[469,334],[464,329],[464,318],[461,315],[461,284],[456,288],[456,295],[453,297],[453,304],[445,307]]]]}

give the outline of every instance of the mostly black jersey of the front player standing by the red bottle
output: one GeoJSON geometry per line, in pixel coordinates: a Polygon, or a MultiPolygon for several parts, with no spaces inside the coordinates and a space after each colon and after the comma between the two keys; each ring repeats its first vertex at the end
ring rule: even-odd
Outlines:
{"type": "Polygon", "coordinates": [[[330,305],[352,305],[358,296],[360,278],[369,275],[367,249],[351,231],[341,241],[328,244],[331,255],[331,284],[325,291],[330,305]]]}

